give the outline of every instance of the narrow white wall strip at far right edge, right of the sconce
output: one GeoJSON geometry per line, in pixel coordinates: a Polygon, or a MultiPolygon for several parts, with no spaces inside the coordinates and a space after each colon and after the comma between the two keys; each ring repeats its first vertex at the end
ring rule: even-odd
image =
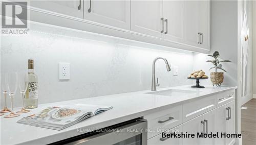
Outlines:
{"type": "Polygon", "coordinates": [[[256,98],[256,1],[252,1],[253,98],[256,98]]]}

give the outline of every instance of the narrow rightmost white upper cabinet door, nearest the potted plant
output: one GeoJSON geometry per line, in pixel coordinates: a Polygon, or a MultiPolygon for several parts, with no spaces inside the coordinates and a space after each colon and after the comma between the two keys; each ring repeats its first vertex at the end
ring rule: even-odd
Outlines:
{"type": "Polygon", "coordinates": [[[198,2],[199,47],[210,50],[210,1],[198,2]]]}

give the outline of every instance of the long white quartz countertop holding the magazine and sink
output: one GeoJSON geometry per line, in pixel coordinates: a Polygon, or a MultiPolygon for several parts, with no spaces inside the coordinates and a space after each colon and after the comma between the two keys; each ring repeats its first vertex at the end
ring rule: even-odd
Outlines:
{"type": "MultiPolygon", "coordinates": [[[[77,136],[88,131],[115,125],[126,120],[144,116],[170,106],[183,104],[192,99],[204,97],[213,93],[223,92],[226,90],[236,89],[237,87],[212,87],[191,88],[190,86],[168,87],[165,89],[183,89],[196,90],[197,93],[185,96],[164,96],[155,94],[146,94],[151,90],[120,93],[113,95],[98,96],[95,98],[86,98],[79,100],[69,100],[63,102],[55,102],[48,104],[40,104],[38,108],[31,110],[29,113],[21,114],[19,117],[4,118],[0,117],[1,121],[1,143],[0,144],[47,144],[77,136]],[[72,104],[95,104],[113,106],[113,109],[100,113],[94,117],[88,118],[83,122],[75,124],[66,129],[57,131],[46,128],[17,124],[17,120],[22,117],[39,112],[42,109],[50,106],[72,105],[72,104]],[[79,128],[82,128],[78,131],[79,128]]],[[[43,96],[40,96],[43,97],[43,96]]],[[[17,110],[16,108],[15,110],[17,110]]]]}

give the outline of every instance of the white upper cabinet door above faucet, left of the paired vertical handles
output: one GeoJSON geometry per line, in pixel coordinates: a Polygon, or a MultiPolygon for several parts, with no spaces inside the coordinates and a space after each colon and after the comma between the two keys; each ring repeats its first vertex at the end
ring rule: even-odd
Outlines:
{"type": "Polygon", "coordinates": [[[161,38],[161,35],[163,33],[162,3],[162,1],[132,0],[131,30],[141,34],[161,38]]]}

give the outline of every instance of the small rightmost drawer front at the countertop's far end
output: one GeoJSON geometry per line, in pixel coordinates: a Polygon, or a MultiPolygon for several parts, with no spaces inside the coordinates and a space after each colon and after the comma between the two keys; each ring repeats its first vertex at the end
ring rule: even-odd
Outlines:
{"type": "Polygon", "coordinates": [[[218,107],[233,101],[235,95],[236,94],[234,93],[234,90],[225,91],[223,93],[218,94],[218,97],[217,97],[218,107]]]}

